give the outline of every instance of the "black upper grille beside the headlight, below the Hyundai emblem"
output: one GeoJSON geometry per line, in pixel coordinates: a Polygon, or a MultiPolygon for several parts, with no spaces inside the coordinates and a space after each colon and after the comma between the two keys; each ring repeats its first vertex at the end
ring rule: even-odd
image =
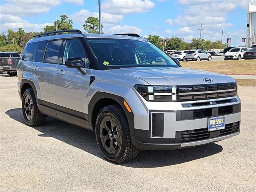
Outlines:
{"type": "Polygon", "coordinates": [[[236,96],[236,82],[229,84],[178,86],[178,101],[206,100],[236,96]]]}

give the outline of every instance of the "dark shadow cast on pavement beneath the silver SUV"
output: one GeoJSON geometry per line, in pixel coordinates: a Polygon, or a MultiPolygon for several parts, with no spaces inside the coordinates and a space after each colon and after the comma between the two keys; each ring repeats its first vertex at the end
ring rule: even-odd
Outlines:
{"type": "MultiPolygon", "coordinates": [[[[21,108],[10,109],[6,111],[6,114],[10,118],[25,124],[21,108]]],[[[43,126],[32,128],[42,132],[42,134],[38,134],[40,137],[56,138],[106,160],[97,147],[95,133],[90,130],[51,117],[46,119],[43,126]]],[[[120,165],[133,168],[170,166],[212,156],[221,152],[222,149],[222,146],[212,143],[179,150],[145,150],[139,152],[134,160],[130,160],[120,165]]]]}

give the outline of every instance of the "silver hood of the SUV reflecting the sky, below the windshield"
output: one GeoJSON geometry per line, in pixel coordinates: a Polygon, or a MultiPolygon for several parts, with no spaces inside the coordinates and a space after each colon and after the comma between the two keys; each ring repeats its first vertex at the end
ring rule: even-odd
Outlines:
{"type": "Polygon", "coordinates": [[[114,74],[122,74],[140,78],[150,85],[199,85],[234,82],[235,80],[224,74],[182,67],[133,67],[109,70],[114,74]],[[212,83],[204,82],[210,78],[212,83]]]}

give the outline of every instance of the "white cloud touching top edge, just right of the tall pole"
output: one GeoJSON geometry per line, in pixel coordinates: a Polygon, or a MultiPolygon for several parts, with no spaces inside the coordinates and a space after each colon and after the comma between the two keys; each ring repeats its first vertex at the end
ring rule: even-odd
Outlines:
{"type": "Polygon", "coordinates": [[[105,0],[102,10],[112,14],[147,12],[155,6],[151,0],[105,0]]]}

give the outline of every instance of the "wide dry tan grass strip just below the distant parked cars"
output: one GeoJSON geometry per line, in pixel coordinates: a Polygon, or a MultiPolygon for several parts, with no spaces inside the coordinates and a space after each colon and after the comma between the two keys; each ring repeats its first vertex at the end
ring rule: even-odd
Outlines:
{"type": "Polygon", "coordinates": [[[182,67],[206,70],[217,73],[256,73],[256,60],[229,61],[188,61],[180,62],[182,67]]]}

